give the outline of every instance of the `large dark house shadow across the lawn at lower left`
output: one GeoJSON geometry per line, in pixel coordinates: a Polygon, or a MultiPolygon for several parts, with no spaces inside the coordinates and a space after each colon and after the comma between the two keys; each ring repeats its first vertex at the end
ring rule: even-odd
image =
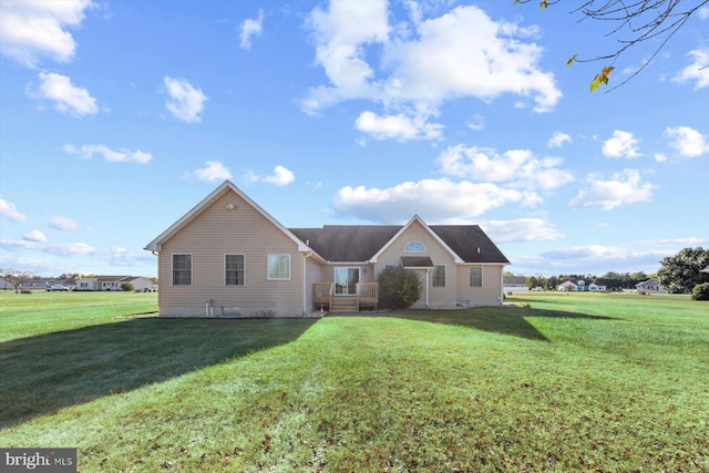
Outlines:
{"type": "Polygon", "coordinates": [[[143,318],[0,343],[0,429],[288,343],[316,321],[143,318]]]}

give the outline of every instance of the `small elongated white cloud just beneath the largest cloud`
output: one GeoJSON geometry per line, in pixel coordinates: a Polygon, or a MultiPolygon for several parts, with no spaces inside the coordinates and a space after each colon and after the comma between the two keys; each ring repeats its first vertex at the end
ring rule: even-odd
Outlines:
{"type": "Polygon", "coordinates": [[[440,140],[443,125],[428,123],[427,115],[407,116],[403,113],[397,115],[380,116],[373,112],[362,112],[354,126],[362,133],[367,133],[374,140],[440,140]]]}

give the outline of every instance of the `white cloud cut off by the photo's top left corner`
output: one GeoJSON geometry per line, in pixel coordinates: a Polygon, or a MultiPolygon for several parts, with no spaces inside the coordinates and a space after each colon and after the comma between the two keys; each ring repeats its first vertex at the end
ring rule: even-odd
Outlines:
{"type": "Polygon", "coordinates": [[[76,28],[91,0],[0,1],[0,52],[34,68],[41,56],[69,62],[76,43],[66,28],[76,28]]]}

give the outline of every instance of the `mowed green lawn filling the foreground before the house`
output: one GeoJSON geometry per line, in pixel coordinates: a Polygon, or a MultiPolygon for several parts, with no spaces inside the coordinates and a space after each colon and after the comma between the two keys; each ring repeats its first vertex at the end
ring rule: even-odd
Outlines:
{"type": "Polygon", "coordinates": [[[709,470],[709,304],[507,300],[62,331],[3,308],[39,327],[0,345],[0,445],[82,472],[709,470]]]}

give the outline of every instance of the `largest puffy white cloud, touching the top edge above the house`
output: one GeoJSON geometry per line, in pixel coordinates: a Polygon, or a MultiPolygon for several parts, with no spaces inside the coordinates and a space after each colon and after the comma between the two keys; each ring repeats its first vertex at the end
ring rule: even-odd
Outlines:
{"type": "Polygon", "coordinates": [[[304,111],[366,99],[381,103],[387,116],[409,110],[415,111],[410,116],[436,115],[448,100],[489,102],[512,93],[547,112],[562,97],[554,75],[538,65],[542,48],[524,41],[532,29],[495,22],[474,6],[425,21],[418,8],[410,11],[412,21],[392,29],[386,1],[333,0],[328,11],[316,8],[309,24],[329,84],[308,91],[304,111]]]}

